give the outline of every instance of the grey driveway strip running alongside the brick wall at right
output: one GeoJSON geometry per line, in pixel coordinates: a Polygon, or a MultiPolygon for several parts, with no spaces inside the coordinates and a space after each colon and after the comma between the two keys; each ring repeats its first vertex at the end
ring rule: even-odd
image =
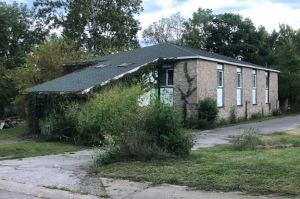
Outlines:
{"type": "Polygon", "coordinates": [[[257,128],[260,134],[271,134],[300,127],[300,115],[270,119],[262,122],[239,124],[196,133],[194,148],[228,144],[232,137],[241,134],[243,129],[257,128]]]}

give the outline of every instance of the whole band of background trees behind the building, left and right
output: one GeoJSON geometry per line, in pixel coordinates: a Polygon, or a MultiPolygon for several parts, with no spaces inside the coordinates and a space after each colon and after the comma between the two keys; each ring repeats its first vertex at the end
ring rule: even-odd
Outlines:
{"type": "MultiPolygon", "coordinates": [[[[22,90],[62,74],[61,64],[139,47],[141,0],[0,0],[0,117],[22,90]],[[59,32],[53,39],[53,32],[59,32]]],[[[202,48],[279,69],[279,99],[300,110],[300,30],[268,32],[249,18],[199,8],[153,22],[144,43],[202,48]]]]}

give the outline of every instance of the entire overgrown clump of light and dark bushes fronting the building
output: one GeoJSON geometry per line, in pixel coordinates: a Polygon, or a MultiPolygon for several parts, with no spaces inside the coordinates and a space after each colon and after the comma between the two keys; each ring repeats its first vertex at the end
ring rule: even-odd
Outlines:
{"type": "Polygon", "coordinates": [[[192,141],[182,131],[179,113],[160,102],[140,107],[141,94],[139,86],[106,89],[82,106],[72,104],[51,114],[43,132],[75,144],[101,145],[98,165],[188,155],[192,141]]]}

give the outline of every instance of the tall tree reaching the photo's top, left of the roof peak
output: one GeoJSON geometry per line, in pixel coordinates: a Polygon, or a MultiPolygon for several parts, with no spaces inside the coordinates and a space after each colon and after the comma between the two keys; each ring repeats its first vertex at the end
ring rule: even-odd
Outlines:
{"type": "Polygon", "coordinates": [[[36,16],[92,54],[138,47],[141,0],[36,0],[36,16]]]}

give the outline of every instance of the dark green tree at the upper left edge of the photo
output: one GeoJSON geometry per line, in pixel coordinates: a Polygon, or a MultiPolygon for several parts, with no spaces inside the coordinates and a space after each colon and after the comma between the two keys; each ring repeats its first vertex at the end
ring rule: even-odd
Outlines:
{"type": "Polygon", "coordinates": [[[21,66],[26,53],[47,33],[25,5],[0,2],[0,62],[5,68],[21,66]]]}

